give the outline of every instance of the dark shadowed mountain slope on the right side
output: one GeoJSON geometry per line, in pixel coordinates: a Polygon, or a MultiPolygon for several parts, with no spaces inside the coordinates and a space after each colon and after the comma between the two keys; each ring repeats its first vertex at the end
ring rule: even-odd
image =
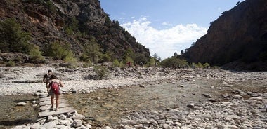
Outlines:
{"type": "Polygon", "coordinates": [[[183,57],[189,62],[220,66],[231,62],[226,67],[266,70],[259,65],[266,66],[267,60],[266,21],[267,1],[243,1],[211,22],[207,34],[185,50],[183,57]]]}

